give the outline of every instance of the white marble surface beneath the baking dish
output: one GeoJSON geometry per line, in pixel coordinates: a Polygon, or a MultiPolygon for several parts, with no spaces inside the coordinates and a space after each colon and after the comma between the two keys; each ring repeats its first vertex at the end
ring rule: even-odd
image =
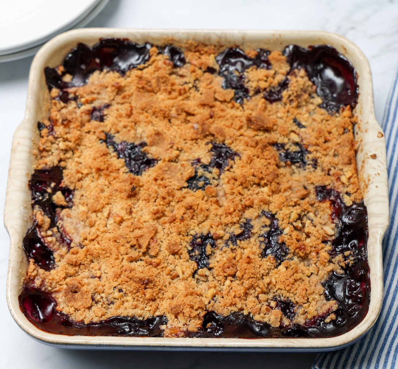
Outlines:
{"type": "MultiPolygon", "coordinates": [[[[67,4],[67,2],[65,2],[67,4]]],[[[60,10],[62,11],[62,10],[60,10]]],[[[54,15],[56,16],[56,14],[54,15]]],[[[332,31],[356,43],[373,74],[381,121],[398,64],[397,0],[110,0],[89,26],[135,28],[309,29],[332,31]]],[[[1,37],[5,37],[2,35],[1,37]]],[[[11,141],[23,118],[32,58],[0,64],[0,214],[11,141]]],[[[3,223],[3,222],[2,222],[3,223]]],[[[313,353],[179,353],[62,350],[33,341],[12,320],[5,299],[9,238],[0,226],[0,368],[310,368],[313,353]]]]}

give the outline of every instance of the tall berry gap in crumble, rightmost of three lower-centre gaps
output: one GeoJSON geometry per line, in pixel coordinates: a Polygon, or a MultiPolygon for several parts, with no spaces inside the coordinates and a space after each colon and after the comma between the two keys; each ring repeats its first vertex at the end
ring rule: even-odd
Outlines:
{"type": "Polygon", "coordinates": [[[271,221],[268,226],[269,230],[259,235],[261,256],[266,258],[267,256],[272,255],[278,266],[283,262],[283,260],[285,260],[286,255],[289,252],[285,242],[279,242],[279,238],[283,234],[283,230],[279,228],[278,221],[273,214],[263,211],[261,215],[263,217],[267,217],[271,221]]]}

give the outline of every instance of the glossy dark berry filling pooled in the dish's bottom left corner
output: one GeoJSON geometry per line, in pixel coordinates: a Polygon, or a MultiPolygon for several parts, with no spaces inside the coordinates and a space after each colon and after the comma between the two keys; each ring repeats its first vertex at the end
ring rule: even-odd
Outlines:
{"type": "Polygon", "coordinates": [[[22,312],[39,328],[52,333],[84,336],[148,336],[162,337],[165,316],[148,319],[113,316],[100,322],[84,324],[71,320],[68,315],[56,311],[56,303],[46,292],[24,287],[19,296],[22,312]]]}

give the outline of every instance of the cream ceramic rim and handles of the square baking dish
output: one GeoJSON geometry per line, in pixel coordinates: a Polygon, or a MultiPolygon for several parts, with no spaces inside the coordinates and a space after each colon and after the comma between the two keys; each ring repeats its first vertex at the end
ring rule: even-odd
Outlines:
{"type": "Polygon", "coordinates": [[[29,75],[29,91],[25,118],[16,130],[12,145],[6,194],[4,221],[10,234],[10,262],[7,278],[7,302],[18,325],[30,336],[43,343],[68,348],[125,348],[180,350],[245,350],[245,351],[328,351],[353,344],[375,323],[383,296],[381,242],[388,225],[387,170],[384,135],[375,119],[373,88],[369,63],[365,55],[347,39],[326,32],[314,31],[195,31],[195,30],[136,30],[78,29],[63,33],[46,43],[33,59],[29,75]],[[238,45],[243,49],[262,47],[282,50],[286,45],[328,44],[347,57],[358,74],[359,100],[355,108],[359,123],[355,127],[357,166],[360,186],[368,211],[371,296],[369,311],[352,330],[331,338],[148,338],[57,335],[35,327],[20,310],[18,295],[28,266],[22,249],[22,238],[31,225],[31,193],[27,187],[33,172],[33,150],[38,143],[37,121],[45,118],[49,94],[44,68],[59,65],[77,43],[94,45],[100,38],[127,38],[137,43],[162,44],[173,38],[176,43],[195,40],[238,45]]]}

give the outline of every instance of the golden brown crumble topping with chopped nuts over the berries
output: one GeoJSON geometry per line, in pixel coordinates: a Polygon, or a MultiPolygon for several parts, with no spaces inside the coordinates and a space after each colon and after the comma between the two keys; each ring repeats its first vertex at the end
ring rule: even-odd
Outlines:
{"type": "MultiPolygon", "coordinates": [[[[31,260],[27,278],[73,320],[164,315],[164,336],[175,336],[195,332],[207,311],[238,311],[287,326],[277,300],[295,305],[293,323],[336,318],[338,304],[326,300],[322,283],[345,262],[328,254],[336,225],[315,186],[339,191],[347,206],[362,200],[356,118],[350,107],[332,115],[319,107],[305,71],[287,76],[279,51],[268,56],[271,69],[244,72],[251,98],[234,102],[223,77],[204,72],[219,69],[216,55],[214,47],[191,45],[186,64],[175,68],[152,47],[148,62],[125,76],[96,71],[86,85],[70,88],[79,104],[60,102],[59,90],[51,91],[36,169],[64,168],[73,206],[58,216],[72,243],[70,250],[60,244],[58,228],[35,207],[57,267],[45,271],[31,260]],[[286,77],[281,101],[256,93],[286,77]],[[103,121],[92,119],[93,108],[102,109],[103,121]],[[129,171],[115,150],[123,142],[146,143],[142,152],[154,165],[141,175],[129,171]],[[210,165],[216,144],[234,153],[221,169],[210,165]],[[304,150],[301,162],[281,160],[297,150],[304,150]],[[285,245],[282,257],[264,254],[273,225],[285,245]],[[203,240],[207,265],[198,269],[193,241],[203,240]]],[[[66,204],[61,191],[53,202],[66,204]]]]}

